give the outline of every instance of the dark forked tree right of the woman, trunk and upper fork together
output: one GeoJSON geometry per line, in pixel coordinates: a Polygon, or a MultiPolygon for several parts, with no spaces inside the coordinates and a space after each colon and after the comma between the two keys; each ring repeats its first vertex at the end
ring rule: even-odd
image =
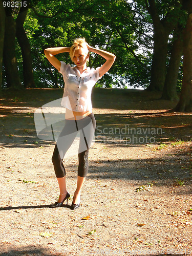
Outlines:
{"type": "Polygon", "coordinates": [[[145,0],[145,3],[154,25],[151,82],[147,90],[162,91],[166,75],[168,37],[177,25],[181,1],[170,1],[170,3],[159,1],[156,3],[155,0],[145,0]]]}

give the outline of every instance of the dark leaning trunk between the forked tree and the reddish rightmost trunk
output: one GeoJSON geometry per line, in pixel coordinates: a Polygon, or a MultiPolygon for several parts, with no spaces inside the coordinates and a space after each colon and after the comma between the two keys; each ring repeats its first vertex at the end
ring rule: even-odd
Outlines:
{"type": "Polygon", "coordinates": [[[183,53],[183,41],[181,40],[182,32],[178,31],[177,39],[173,42],[170,54],[169,65],[165,77],[162,99],[178,100],[177,79],[179,67],[181,64],[181,55],[183,53]]]}

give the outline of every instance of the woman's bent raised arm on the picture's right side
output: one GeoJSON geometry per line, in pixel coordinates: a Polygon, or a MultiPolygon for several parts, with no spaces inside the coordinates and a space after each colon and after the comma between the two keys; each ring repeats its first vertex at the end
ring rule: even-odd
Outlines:
{"type": "Polygon", "coordinates": [[[101,57],[105,58],[106,61],[104,62],[104,64],[102,65],[102,67],[99,69],[99,76],[103,76],[106,72],[108,72],[108,70],[111,68],[111,66],[113,65],[114,61],[115,61],[115,58],[116,56],[113,54],[113,53],[110,53],[110,52],[106,52],[106,51],[103,51],[103,50],[100,50],[100,49],[96,49],[96,48],[93,48],[91,46],[89,46],[87,44],[87,47],[88,47],[88,50],[90,52],[94,52],[94,53],[97,53],[99,54],[101,57]]]}

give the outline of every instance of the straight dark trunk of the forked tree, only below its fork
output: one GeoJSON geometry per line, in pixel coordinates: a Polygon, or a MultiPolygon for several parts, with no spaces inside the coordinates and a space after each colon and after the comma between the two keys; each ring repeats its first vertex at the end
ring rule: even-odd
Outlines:
{"type": "Polygon", "coordinates": [[[152,59],[151,81],[147,90],[162,91],[166,74],[167,42],[169,31],[165,31],[164,28],[154,30],[154,52],[152,59]]]}

